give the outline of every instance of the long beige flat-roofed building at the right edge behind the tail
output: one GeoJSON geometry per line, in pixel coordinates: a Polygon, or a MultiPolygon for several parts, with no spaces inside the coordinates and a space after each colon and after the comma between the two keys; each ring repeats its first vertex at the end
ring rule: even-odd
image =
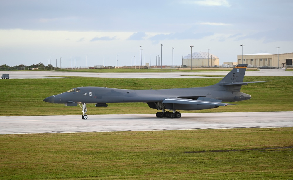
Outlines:
{"type": "MultiPolygon", "coordinates": [[[[293,52],[283,54],[256,53],[243,54],[243,63],[255,67],[292,67],[293,52]],[[279,63],[278,63],[279,56],[279,63]]],[[[242,55],[237,56],[237,63],[242,63],[242,55]]]]}

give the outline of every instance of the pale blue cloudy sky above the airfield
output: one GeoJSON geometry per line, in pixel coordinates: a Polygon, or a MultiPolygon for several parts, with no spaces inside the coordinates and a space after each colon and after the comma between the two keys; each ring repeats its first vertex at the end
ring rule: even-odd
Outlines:
{"type": "Polygon", "coordinates": [[[140,46],[151,65],[181,65],[191,45],[220,65],[242,48],[289,53],[292,9],[292,0],[1,0],[0,65],[134,66],[140,46]]]}

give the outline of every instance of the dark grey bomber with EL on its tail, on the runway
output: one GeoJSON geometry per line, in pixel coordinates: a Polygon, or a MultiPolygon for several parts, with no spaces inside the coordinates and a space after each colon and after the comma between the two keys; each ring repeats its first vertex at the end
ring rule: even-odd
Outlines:
{"type": "Polygon", "coordinates": [[[176,88],[158,90],[130,90],[106,87],[78,87],[67,92],[45,98],[43,101],[62,103],[65,106],[82,108],[82,119],[87,119],[87,103],[96,107],[107,107],[106,103],[144,102],[157,109],[157,117],[180,118],[177,110],[201,110],[219,106],[235,105],[224,102],[243,101],[251,98],[240,92],[242,85],[267,81],[243,82],[247,64],[233,68],[219,83],[198,88],[176,88]]]}

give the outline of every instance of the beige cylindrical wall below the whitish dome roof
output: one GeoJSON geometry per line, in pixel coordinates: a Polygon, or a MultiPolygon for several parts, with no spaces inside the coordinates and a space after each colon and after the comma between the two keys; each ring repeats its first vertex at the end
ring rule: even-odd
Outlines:
{"type": "MultiPolygon", "coordinates": [[[[182,65],[191,67],[191,59],[182,59],[182,65]]],[[[193,59],[192,58],[192,67],[211,67],[219,66],[219,59],[193,59]]]]}

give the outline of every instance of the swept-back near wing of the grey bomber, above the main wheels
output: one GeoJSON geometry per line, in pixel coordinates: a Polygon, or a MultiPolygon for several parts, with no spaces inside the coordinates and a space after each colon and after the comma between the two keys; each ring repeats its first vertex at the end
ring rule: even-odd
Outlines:
{"type": "MultiPolygon", "coordinates": [[[[210,99],[210,98],[207,98],[210,99]]],[[[215,100],[215,99],[213,99],[215,100]]],[[[192,100],[192,99],[181,99],[181,98],[167,98],[162,103],[174,103],[174,104],[194,104],[194,105],[209,105],[209,106],[227,106],[236,104],[226,104],[222,102],[203,101],[203,100],[192,100]]]]}

